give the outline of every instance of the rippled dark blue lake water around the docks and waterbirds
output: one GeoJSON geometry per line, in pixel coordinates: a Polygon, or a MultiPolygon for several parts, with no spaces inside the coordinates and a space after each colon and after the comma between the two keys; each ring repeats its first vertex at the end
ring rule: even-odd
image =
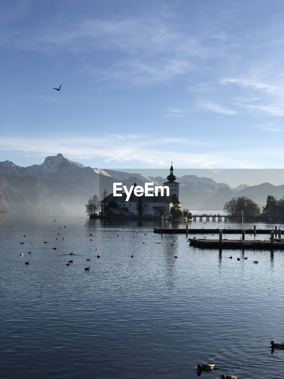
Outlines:
{"type": "Polygon", "coordinates": [[[284,378],[283,251],[200,250],[157,221],[0,221],[1,378],[284,378]]]}

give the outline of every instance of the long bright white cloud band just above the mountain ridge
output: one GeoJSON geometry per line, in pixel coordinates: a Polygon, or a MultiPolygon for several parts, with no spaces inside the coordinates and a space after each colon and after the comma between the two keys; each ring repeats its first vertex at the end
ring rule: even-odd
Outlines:
{"type": "MultiPolygon", "coordinates": [[[[167,167],[168,155],[165,155],[165,146],[176,146],[172,154],[176,167],[193,168],[264,168],[270,166],[267,160],[261,161],[258,157],[259,147],[244,150],[240,155],[239,150],[228,150],[218,146],[218,153],[212,148],[212,144],[206,144],[200,139],[193,138],[161,138],[157,146],[156,140],[152,141],[143,135],[117,135],[98,136],[98,138],[60,137],[48,138],[20,138],[3,137],[0,139],[2,152],[17,152],[22,156],[46,157],[62,153],[64,156],[88,164],[88,161],[104,162],[104,166],[111,168],[114,162],[131,163],[144,167],[149,164],[152,167],[167,167]],[[119,140],[119,143],[117,142],[119,140]],[[144,142],[147,141],[147,144],[144,142]],[[149,143],[148,143],[149,142],[149,143]],[[181,143],[183,142],[183,143],[181,143]],[[188,147],[190,146],[190,152],[188,147]],[[226,157],[226,160],[223,157],[226,157]]],[[[267,155],[277,154],[284,157],[283,150],[276,147],[268,147],[267,155]]],[[[94,164],[93,166],[98,166],[94,164]]]]}

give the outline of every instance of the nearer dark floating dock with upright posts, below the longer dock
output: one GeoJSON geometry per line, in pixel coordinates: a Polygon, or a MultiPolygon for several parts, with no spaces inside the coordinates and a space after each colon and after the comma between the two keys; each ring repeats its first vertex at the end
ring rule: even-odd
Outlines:
{"type": "Polygon", "coordinates": [[[282,249],[284,250],[284,240],[277,238],[271,241],[250,241],[250,240],[207,240],[205,238],[189,238],[190,246],[201,247],[204,249],[282,249]]]}

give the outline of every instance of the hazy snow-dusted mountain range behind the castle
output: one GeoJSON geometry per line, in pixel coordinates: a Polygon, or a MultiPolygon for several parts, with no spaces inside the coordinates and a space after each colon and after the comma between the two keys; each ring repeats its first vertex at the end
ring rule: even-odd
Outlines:
{"type": "MultiPolygon", "coordinates": [[[[162,177],[144,174],[102,170],[73,162],[62,154],[47,157],[42,164],[20,167],[11,161],[0,162],[0,209],[41,215],[84,215],[85,204],[90,196],[105,188],[112,192],[113,182],[129,187],[153,182],[161,185],[162,177]],[[135,179],[136,178],[136,179],[135,179]]],[[[262,183],[256,186],[239,185],[231,188],[210,178],[184,175],[177,177],[179,200],[182,207],[190,210],[220,211],[226,201],[236,196],[248,196],[259,205],[265,204],[268,194],[278,199],[284,195],[284,185],[262,183]]]]}

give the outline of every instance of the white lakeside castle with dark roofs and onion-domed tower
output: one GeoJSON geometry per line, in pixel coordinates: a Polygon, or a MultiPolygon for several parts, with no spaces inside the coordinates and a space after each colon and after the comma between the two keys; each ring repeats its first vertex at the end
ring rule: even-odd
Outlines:
{"type": "MultiPolygon", "coordinates": [[[[176,177],[173,175],[173,165],[170,167],[170,175],[167,177],[167,182],[163,183],[164,186],[168,186],[170,189],[170,196],[166,196],[166,190],[164,193],[159,192],[158,196],[136,196],[133,192],[130,195],[128,201],[126,201],[126,193],[122,193],[122,196],[114,196],[113,193],[106,197],[106,207],[110,202],[115,202],[118,207],[110,208],[107,212],[107,216],[113,218],[136,218],[138,212],[136,210],[136,204],[139,199],[142,199],[144,212],[143,217],[159,217],[161,211],[164,212],[165,217],[170,217],[170,209],[173,206],[172,196],[176,194],[178,198],[179,183],[176,182],[176,177]]],[[[134,183],[136,187],[136,183],[134,183]]],[[[104,212],[105,201],[101,202],[101,215],[104,212]]]]}

